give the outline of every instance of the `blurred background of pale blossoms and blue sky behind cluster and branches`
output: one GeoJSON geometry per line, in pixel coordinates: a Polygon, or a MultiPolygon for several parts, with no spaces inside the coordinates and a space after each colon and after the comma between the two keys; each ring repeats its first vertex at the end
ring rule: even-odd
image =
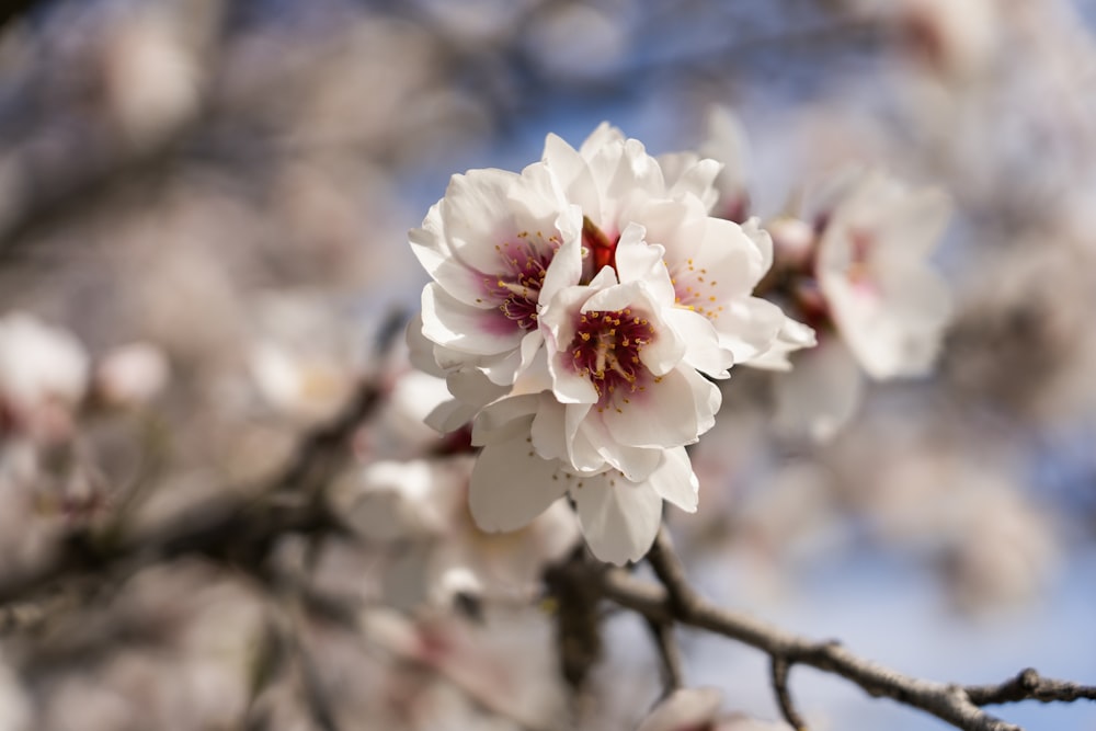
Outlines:
{"type": "MultiPolygon", "coordinates": [[[[698,585],[914,675],[1093,683],[1094,30],[1092,0],[22,9],[0,31],[0,575],[76,528],[155,529],[263,483],[363,378],[385,403],[340,494],[421,479],[458,499],[424,517],[389,495],[399,519],[364,542],[274,547],[275,573],[377,607],[361,642],[196,558],[9,606],[0,730],[632,728],[659,693],[636,618],[607,623],[576,708],[546,613],[514,599],[535,590],[483,591],[487,621],[452,610],[467,567],[437,549],[487,539],[467,535],[464,458],[424,461],[432,387],[377,343],[418,307],[407,230],[452,173],[521,169],[547,133],[578,146],[606,119],[695,148],[717,105],[762,218],[848,163],[947,190],[935,263],[957,311],[932,377],[867,386],[824,443],[774,427],[770,376],[726,385],[694,453],[700,511],[670,515],[698,585]]],[[[761,655],[684,641],[690,683],[778,718],[761,655]]],[[[794,688],[818,729],[945,728],[813,671],[794,688]]],[[[1091,705],[1002,713],[1096,729],[1091,705]]]]}

